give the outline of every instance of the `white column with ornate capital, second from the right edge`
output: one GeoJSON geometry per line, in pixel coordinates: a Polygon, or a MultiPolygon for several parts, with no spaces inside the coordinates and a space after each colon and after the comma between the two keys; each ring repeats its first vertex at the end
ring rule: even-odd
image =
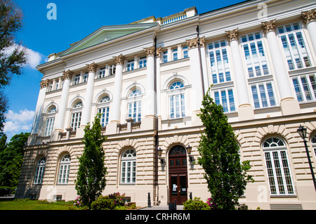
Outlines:
{"type": "Polygon", "coordinates": [[[298,101],[294,99],[289,83],[289,74],[284,65],[284,58],[275,34],[275,21],[262,22],[262,29],[268,39],[275,79],[279,87],[280,106],[283,115],[298,114],[301,112],[298,101]]]}

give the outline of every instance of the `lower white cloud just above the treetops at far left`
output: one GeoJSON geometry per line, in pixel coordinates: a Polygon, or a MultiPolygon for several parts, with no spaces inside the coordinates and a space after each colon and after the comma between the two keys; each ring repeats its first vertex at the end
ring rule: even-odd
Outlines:
{"type": "Polygon", "coordinates": [[[12,136],[21,132],[30,132],[35,112],[32,110],[20,110],[15,113],[8,110],[6,114],[6,123],[4,123],[4,133],[8,136],[8,140],[12,136]]]}

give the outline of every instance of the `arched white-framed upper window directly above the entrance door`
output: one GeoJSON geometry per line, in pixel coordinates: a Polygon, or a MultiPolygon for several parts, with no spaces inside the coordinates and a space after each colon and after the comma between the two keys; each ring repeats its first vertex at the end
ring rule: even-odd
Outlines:
{"type": "Polygon", "coordinates": [[[170,118],[185,117],[185,93],[182,81],[174,81],[169,87],[170,118]]]}

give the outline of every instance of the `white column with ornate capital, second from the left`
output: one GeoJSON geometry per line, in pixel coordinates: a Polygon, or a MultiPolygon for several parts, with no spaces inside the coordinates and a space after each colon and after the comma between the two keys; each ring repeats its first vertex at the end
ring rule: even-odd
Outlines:
{"type": "Polygon", "coordinates": [[[64,79],[64,84],[62,85],[60,105],[58,107],[58,113],[56,114],[55,118],[55,131],[53,133],[54,140],[58,140],[59,132],[64,131],[64,122],[68,103],[68,93],[70,88],[70,80],[72,79],[72,74],[73,73],[70,70],[62,72],[62,79],[64,79]]]}

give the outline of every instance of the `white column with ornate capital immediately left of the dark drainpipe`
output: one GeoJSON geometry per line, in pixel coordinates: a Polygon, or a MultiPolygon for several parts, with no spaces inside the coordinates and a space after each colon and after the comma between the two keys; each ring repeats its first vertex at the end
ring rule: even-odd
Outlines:
{"type": "Polygon", "coordinates": [[[156,93],[154,91],[154,46],[144,48],[147,55],[147,76],[146,76],[146,104],[145,119],[142,122],[142,129],[154,129],[156,115],[156,93]]]}

